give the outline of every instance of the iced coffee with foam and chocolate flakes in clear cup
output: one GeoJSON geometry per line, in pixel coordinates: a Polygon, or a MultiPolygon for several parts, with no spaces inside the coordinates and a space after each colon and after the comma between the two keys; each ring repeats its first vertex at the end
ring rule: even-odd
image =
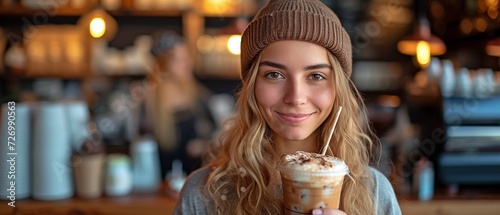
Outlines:
{"type": "Polygon", "coordinates": [[[339,208],[344,176],[349,169],[332,156],[297,151],[278,163],[285,214],[311,214],[315,208],[339,208]]]}

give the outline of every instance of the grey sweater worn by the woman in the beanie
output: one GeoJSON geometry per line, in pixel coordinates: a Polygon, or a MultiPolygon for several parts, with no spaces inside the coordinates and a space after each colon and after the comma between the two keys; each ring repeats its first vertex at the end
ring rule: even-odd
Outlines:
{"type": "MultiPolygon", "coordinates": [[[[396,195],[387,177],[374,168],[370,168],[375,187],[372,189],[375,200],[374,214],[392,215],[401,214],[396,195]]],[[[175,207],[176,215],[205,215],[209,214],[202,199],[202,192],[206,182],[208,168],[201,168],[189,175],[182,188],[179,201],[175,207]]]]}

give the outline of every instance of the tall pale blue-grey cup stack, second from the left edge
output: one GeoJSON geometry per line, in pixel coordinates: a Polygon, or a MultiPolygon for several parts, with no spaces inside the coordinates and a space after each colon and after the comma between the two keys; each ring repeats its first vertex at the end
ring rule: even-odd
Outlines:
{"type": "Polygon", "coordinates": [[[33,198],[59,200],[73,195],[71,144],[66,108],[41,102],[35,114],[33,198]]]}

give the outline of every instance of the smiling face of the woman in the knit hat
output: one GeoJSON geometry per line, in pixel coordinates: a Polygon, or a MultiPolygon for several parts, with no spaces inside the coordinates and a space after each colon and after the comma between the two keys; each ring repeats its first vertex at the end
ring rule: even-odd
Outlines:
{"type": "Polygon", "coordinates": [[[334,74],[327,50],[286,40],[262,50],[255,97],[275,141],[310,142],[332,112],[334,74]]]}

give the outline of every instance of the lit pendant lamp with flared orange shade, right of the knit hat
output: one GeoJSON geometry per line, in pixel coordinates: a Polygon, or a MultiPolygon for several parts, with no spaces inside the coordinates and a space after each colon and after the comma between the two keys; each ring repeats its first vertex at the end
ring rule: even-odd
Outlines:
{"type": "Polygon", "coordinates": [[[415,0],[417,4],[417,20],[413,32],[398,42],[398,51],[415,56],[418,64],[426,67],[431,56],[446,53],[446,45],[431,33],[429,20],[425,13],[425,1],[415,0]]]}

